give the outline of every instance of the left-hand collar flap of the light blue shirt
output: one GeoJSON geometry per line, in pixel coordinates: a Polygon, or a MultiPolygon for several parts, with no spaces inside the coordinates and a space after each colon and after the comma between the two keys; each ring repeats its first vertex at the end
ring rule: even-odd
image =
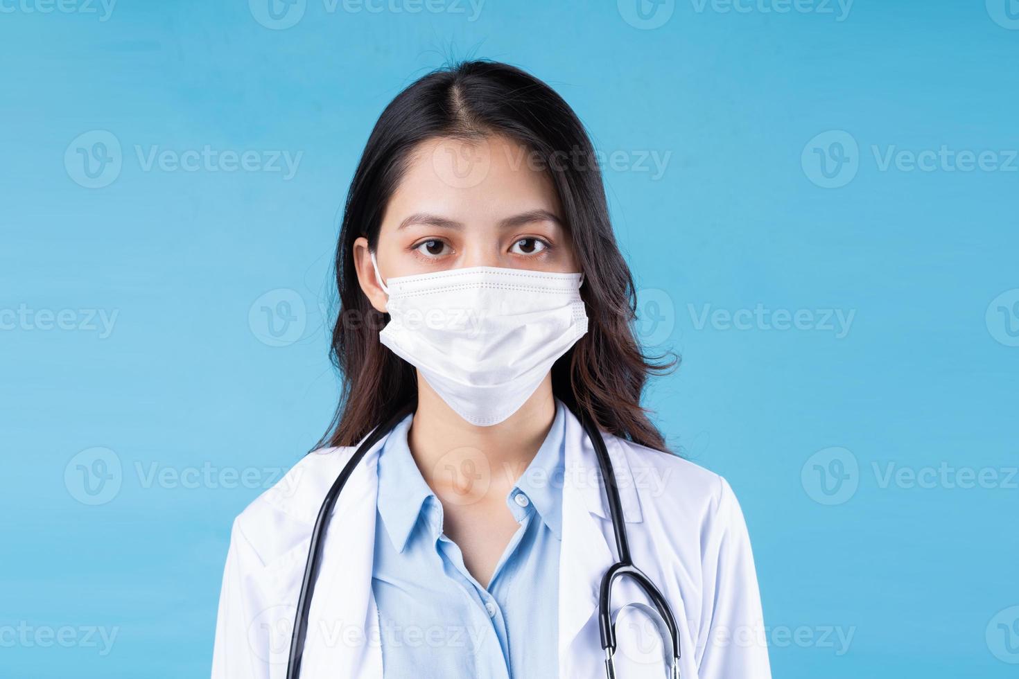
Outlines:
{"type": "Polygon", "coordinates": [[[378,462],[379,516],[389,541],[398,552],[407,548],[425,502],[435,497],[421,475],[407,443],[407,433],[413,420],[414,413],[411,413],[393,428],[378,462]]]}

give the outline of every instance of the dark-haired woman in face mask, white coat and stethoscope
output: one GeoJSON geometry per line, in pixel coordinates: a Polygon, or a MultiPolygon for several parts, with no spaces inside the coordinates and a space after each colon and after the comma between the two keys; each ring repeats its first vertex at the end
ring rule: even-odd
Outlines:
{"type": "Polygon", "coordinates": [[[351,185],[336,282],[341,404],[234,521],[214,677],[603,676],[601,580],[631,560],[669,611],[614,582],[621,676],[674,655],[673,676],[770,676],[739,505],[640,405],[656,366],[633,281],[552,90],[475,61],[400,93],[351,185]]]}

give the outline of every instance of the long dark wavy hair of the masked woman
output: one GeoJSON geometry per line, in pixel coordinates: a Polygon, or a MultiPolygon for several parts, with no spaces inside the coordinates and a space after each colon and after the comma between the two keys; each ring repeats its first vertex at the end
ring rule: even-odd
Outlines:
{"type": "Polygon", "coordinates": [[[665,450],[640,405],[650,373],[669,369],[646,358],[634,336],[636,294],[608,219],[594,149],[569,105],[533,75],[502,63],[468,61],[425,75],[399,93],[375,123],[346,196],[336,245],[339,313],[330,357],[342,377],[339,406],[320,445],[350,446],[416,402],[415,369],[378,338],[387,315],[358,283],[354,241],[374,250],[382,214],[407,160],[437,137],[502,134],[540,159],[554,182],[577,261],[588,333],[552,366],[552,390],[605,432],[665,450]]]}

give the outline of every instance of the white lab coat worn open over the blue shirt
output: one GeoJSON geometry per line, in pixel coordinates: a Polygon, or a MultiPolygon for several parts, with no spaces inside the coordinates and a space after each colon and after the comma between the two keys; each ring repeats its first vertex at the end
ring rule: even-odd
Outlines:
{"type": "MultiPolygon", "coordinates": [[[[602,573],[615,561],[615,545],[594,449],[569,410],[566,417],[558,671],[550,668],[548,677],[592,679],[604,676],[597,591],[602,573]]],[[[633,561],[668,600],[681,628],[683,678],[769,679],[750,541],[729,484],[674,455],[610,435],[604,439],[621,486],[633,561]]],[[[309,616],[305,678],[382,677],[372,596],[381,447],[376,444],[351,475],[329,522],[309,616]]],[[[233,522],[213,679],[285,676],[312,527],[353,451],[330,448],[307,455],[233,522]]],[[[618,580],[613,611],[630,603],[649,604],[631,582],[618,580]]],[[[628,607],[619,619],[621,677],[665,676],[664,644],[650,633],[652,624],[639,622],[641,616],[651,622],[647,611],[628,607]]]]}

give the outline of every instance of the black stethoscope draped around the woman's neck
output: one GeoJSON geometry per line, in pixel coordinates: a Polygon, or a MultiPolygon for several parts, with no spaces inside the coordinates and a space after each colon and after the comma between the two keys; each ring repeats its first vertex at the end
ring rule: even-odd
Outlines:
{"type": "MultiPolygon", "coordinates": [[[[319,509],[318,517],[315,519],[315,528],[312,530],[312,541],[308,548],[308,562],[305,565],[305,577],[301,582],[301,597],[298,599],[297,617],[293,621],[293,633],[290,637],[290,655],[286,665],[286,679],[298,679],[301,675],[301,657],[305,649],[305,636],[308,633],[308,611],[312,604],[312,595],[315,590],[315,580],[318,576],[319,562],[322,558],[323,536],[329,523],[329,515],[336,505],[340,491],[351,477],[354,469],[364,458],[365,454],[376,443],[382,440],[396,425],[398,425],[413,410],[413,404],[401,408],[388,421],[376,428],[369,434],[358,450],[354,453],[346,465],[343,467],[336,480],[332,483],[322,507],[319,509]]],[[[630,558],[630,542],[627,539],[627,525],[623,517],[623,503],[620,501],[620,489],[616,485],[615,472],[612,469],[612,462],[608,458],[608,450],[601,434],[594,427],[591,420],[581,413],[579,415],[585,434],[594,446],[595,455],[598,458],[598,468],[601,470],[601,477],[605,479],[605,497],[608,500],[608,515],[612,521],[612,532],[615,534],[615,551],[620,555],[620,560],[612,564],[605,574],[601,576],[601,587],[598,595],[598,630],[601,636],[601,647],[605,652],[605,676],[608,679],[615,679],[615,664],[612,657],[615,655],[615,623],[612,622],[612,584],[621,578],[630,578],[639,586],[647,598],[654,604],[658,615],[665,621],[668,628],[668,635],[673,642],[673,664],[669,676],[672,679],[680,679],[680,630],[676,625],[676,618],[668,608],[668,603],[661,596],[658,588],[651,582],[630,558]]]]}

